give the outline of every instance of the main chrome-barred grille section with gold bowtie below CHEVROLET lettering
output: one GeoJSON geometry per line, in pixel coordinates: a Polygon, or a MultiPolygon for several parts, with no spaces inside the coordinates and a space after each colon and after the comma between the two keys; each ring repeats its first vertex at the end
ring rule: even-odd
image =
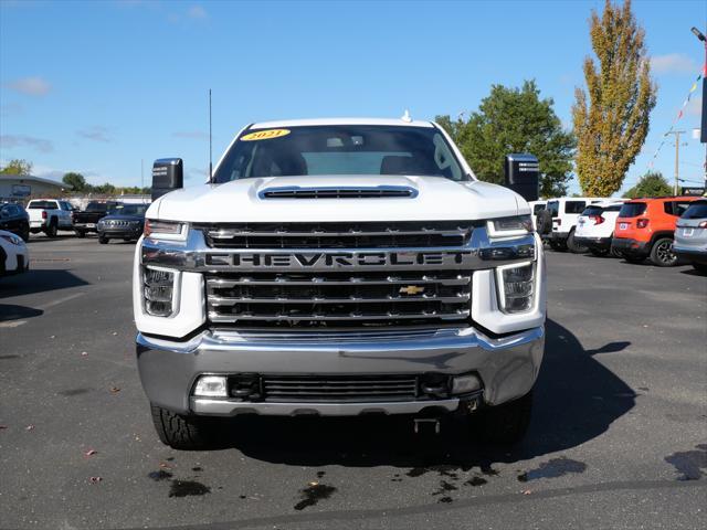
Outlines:
{"type": "Polygon", "coordinates": [[[326,327],[460,321],[469,316],[471,279],[455,271],[207,275],[207,304],[213,324],[326,327]]]}

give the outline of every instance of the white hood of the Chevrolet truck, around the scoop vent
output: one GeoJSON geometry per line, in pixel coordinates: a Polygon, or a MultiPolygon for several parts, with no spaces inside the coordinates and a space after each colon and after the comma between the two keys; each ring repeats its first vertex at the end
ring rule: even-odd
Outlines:
{"type": "Polygon", "coordinates": [[[515,192],[487,182],[442,177],[306,176],[234,180],[172,191],[152,203],[148,218],[189,222],[453,221],[527,213],[515,192]],[[264,190],[411,188],[405,198],[263,198],[264,190]],[[520,208],[520,211],[519,211],[520,208]]]}

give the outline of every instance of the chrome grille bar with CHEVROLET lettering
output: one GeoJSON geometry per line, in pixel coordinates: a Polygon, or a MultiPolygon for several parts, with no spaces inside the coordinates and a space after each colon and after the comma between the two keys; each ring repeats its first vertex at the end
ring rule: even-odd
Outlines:
{"type": "Polygon", "coordinates": [[[239,269],[347,269],[384,268],[464,268],[472,251],[444,252],[306,252],[306,253],[210,253],[207,266],[239,269]]]}

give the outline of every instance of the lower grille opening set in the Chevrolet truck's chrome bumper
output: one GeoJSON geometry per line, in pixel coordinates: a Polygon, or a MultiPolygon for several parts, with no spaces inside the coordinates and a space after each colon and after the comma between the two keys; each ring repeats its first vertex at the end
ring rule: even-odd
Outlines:
{"type": "Polygon", "coordinates": [[[414,375],[263,375],[261,384],[264,400],[273,402],[384,402],[418,398],[414,375]]]}

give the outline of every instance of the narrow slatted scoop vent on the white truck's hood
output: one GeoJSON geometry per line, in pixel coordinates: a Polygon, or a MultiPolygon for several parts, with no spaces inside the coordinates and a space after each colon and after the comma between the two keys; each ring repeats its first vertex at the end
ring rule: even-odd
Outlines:
{"type": "Polygon", "coordinates": [[[409,186],[371,187],[309,187],[286,186],[265,188],[257,193],[261,199],[413,199],[418,190],[409,186]]]}

